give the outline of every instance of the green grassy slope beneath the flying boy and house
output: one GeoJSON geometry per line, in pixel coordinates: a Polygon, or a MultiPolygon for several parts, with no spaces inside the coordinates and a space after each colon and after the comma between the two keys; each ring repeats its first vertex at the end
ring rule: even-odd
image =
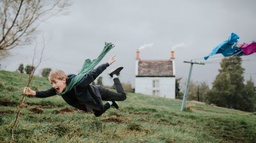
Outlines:
{"type": "MultiPolygon", "coordinates": [[[[10,142],[27,75],[0,71],[0,142],[10,142]]],[[[47,89],[45,78],[31,85],[47,89]]],[[[239,110],[127,93],[120,109],[100,117],[76,110],[60,96],[26,98],[15,142],[254,142],[256,115],[239,110]],[[64,110],[63,110],[64,109],[64,110]],[[61,112],[61,110],[63,110],[61,112]]]]}

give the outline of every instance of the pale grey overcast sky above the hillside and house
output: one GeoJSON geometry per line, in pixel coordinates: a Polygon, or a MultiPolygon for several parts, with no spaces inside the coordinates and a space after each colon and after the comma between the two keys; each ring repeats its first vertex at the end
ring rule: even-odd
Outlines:
{"type": "MultiPolygon", "coordinates": [[[[174,49],[176,77],[185,82],[189,64],[183,61],[204,61],[230,33],[238,34],[241,42],[256,40],[255,6],[255,0],[76,0],[68,15],[52,17],[38,27],[35,40],[40,50],[44,38],[45,52],[37,74],[45,67],[77,73],[84,59],[97,57],[108,41],[115,48],[101,63],[114,55],[117,61],[102,73],[104,84],[112,84],[108,70],[124,66],[120,79],[134,85],[136,50],[145,44],[152,46],[141,50],[141,59],[169,59],[174,49]]],[[[20,63],[31,63],[34,47],[10,50],[1,68],[15,71],[20,63]]],[[[222,58],[218,54],[207,60],[213,63],[195,64],[191,79],[211,86],[222,58]]],[[[243,59],[244,78],[256,83],[256,54],[243,59]]]]}

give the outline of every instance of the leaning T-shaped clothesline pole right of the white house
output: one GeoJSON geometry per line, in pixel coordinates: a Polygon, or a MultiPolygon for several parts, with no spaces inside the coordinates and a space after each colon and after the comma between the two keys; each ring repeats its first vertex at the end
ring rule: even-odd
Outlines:
{"type": "Polygon", "coordinates": [[[188,81],[187,81],[186,89],[185,89],[185,92],[184,92],[184,95],[183,95],[183,100],[182,100],[182,105],[181,105],[180,111],[184,111],[184,109],[186,107],[186,100],[187,100],[187,94],[188,94],[189,82],[190,82],[190,78],[191,78],[193,64],[204,64],[204,63],[192,62],[192,60],[191,61],[184,61],[184,63],[190,63],[190,70],[189,70],[189,74],[188,74],[188,81]]]}

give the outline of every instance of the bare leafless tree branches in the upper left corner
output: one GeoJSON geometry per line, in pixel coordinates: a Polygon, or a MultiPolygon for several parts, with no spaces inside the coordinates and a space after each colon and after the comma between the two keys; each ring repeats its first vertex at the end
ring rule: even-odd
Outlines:
{"type": "Polygon", "coordinates": [[[1,0],[0,52],[31,43],[40,23],[65,11],[68,6],[69,0],[1,0]]]}

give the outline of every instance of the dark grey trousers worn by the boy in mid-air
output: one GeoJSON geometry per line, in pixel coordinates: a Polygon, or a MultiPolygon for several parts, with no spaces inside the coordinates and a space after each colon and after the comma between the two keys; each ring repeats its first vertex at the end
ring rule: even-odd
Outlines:
{"type": "MultiPolygon", "coordinates": [[[[126,93],[124,92],[124,89],[122,87],[122,84],[120,83],[120,80],[118,78],[113,79],[114,84],[116,87],[116,92],[110,91],[109,89],[106,89],[102,86],[97,86],[100,91],[100,95],[102,100],[104,101],[124,101],[126,99],[126,93]]],[[[102,110],[93,110],[93,114],[97,117],[101,116],[106,110],[110,108],[109,103],[105,103],[103,105],[102,110]]]]}

